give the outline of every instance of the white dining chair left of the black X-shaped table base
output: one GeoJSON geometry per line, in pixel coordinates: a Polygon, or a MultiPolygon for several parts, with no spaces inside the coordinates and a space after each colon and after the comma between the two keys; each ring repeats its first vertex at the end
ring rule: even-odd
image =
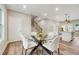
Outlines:
{"type": "Polygon", "coordinates": [[[27,54],[27,50],[29,48],[35,47],[37,44],[32,40],[31,36],[28,36],[27,34],[20,33],[20,37],[23,42],[23,48],[25,51],[23,51],[23,54],[27,54]]]}

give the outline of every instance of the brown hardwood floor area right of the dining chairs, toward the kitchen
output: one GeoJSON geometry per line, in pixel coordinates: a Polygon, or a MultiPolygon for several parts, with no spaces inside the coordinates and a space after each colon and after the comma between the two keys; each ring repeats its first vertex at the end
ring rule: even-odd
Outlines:
{"type": "Polygon", "coordinates": [[[60,52],[63,55],[79,55],[79,46],[72,42],[60,41],[60,52]]]}

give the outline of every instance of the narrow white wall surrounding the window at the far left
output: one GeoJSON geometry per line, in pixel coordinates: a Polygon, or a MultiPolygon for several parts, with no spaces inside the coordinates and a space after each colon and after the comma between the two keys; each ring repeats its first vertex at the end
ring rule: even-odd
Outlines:
{"type": "Polygon", "coordinates": [[[0,9],[4,12],[4,38],[0,41],[0,54],[2,54],[7,45],[7,10],[5,5],[0,5],[0,9]]]}

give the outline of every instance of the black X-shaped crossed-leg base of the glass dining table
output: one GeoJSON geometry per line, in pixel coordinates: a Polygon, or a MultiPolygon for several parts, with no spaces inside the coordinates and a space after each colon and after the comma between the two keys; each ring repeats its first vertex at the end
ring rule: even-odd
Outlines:
{"type": "Polygon", "coordinates": [[[53,51],[49,50],[47,47],[45,47],[43,44],[46,42],[46,40],[43,39],[38,39],[37,37],[31,35],[31,37],[34,39],[33,41],[37,44],[29,53],[29,55],[33,55],[33,53],[41,47],[44,51],[46,51],[49,55],[53,55],[53,51]]]}

